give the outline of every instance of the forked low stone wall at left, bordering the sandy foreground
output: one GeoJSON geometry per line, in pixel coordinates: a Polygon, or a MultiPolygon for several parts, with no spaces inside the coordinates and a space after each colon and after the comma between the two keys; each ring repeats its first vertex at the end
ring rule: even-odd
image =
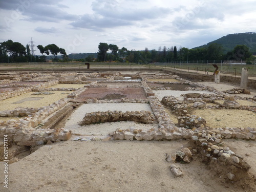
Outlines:
{"type": "Polygon", "coordinates": [[[47,142],[68,140],[71,136],[69,130],[35,130],[43,119],[58,111],[69,102],[69,99],[60,99],[50,106],[39,108],[39,110],[24,119],[0,121],[0,138],[8,135],[8,141],[17,145],[41,145],[47,142]]]}

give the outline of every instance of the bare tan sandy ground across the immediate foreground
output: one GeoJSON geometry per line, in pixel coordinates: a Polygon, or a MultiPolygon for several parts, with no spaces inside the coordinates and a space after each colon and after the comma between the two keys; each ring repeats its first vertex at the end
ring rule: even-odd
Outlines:
{"type": "MultiPolygon", "coordinates": [[[[250,153],[245,160],[252,165],[250,173],[255,175],[255,141],[227,142],[243,156],[250,153]]],[[[20,192],[247,191],[219,181],[196,157],[189,164],[175,163],[184,176],[174,177],[165,153],[176,152],[186,144],[187,141],[66,141],[46,145],[9,165],[8,189],[20,192]]],[[[3,168],[0,163],[0,169],[3,168]]],[[[4,178],[3,171],[0,174],[4,178]]],[[[8,191],[3,188],[3,181],[0,191],[8,191]]]]}

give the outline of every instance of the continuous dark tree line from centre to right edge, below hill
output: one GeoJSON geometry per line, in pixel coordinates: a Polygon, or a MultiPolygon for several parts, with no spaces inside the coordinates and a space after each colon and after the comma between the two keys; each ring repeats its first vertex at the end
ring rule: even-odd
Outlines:
{"type": "Polygon", "coordinates": [[[232,51],[223,53],[223,47],[219,44],[211,44],[207,48],[188,49],[176,46],[166,48],[159,47],[158,50],[143,51],[119,49],[116,45],[108,45],[100,42],[98,46],[98,61],[118,61],[118,62],[172,62],[172,61],[196,61],[196,60],[254,60],[249,48],[245,45],[237,45],[232,51]],[[111,50],[111,53],[108,51],[111,50]]]}

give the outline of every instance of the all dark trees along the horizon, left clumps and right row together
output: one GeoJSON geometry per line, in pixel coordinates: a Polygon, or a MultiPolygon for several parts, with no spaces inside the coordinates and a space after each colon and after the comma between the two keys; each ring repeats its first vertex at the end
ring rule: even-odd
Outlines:
{"type": "MultiPolygon", "coordinates": [[[[24,47],[19,42],[7,40],[0,42],[0,62],[46,62],[47,56],[53,61],[69,61],[65,49],[59,48],[55,44],[47,46],[38,45],[41,56],[32,55],[30,46],[24,47]],[[59,59],[58,54],[62,56],[59,59]]],[[[173,61],[196,61],[196,60],[247,60],[248,63],[254,60],[250,49],[245,45],[237,45],[232,51],[224,54],[223,47],[219,44],[210,44],[207,48],[188,49],[176,46],[167,48],[159,47],[158,50],[152,49],[142,51],[127,50],[122,47],[119,49],[117,45],[100,42],[98,45],[97,58],[89,55],[85,59],[79,61],[98,61],[98,62],[136,62],[136,63],[153,63],[153,62],[173,62],[173,61]]]]}

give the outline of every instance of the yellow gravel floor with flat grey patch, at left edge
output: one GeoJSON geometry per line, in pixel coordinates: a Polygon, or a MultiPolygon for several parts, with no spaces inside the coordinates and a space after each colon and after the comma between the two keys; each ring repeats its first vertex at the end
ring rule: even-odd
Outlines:
{"type": "Polygon", "coordinates": [[[72,93],[70,91],[52,91],[51,93],[54,93],[52,95],[32,95],[36,92],[30,92],[25,93],[16,97],[11,97],[9,99],[5,99],[1,101],[0,105],[0,111],[4,110],[14,110],[15,108],[21,107],[21,108],[40,108],[41,106],[47,106],[49,104],[54,103],[55,101],[58,101],[62,98],[67,98],[68,94],[72,93]],[[61,94],[65,93],[65,94],[61,94]],[[28,98],[42,98],[40,100],[33,100],[28,98]],[[27,99],[27,101],[24,101],[22,103],[14,103],[18,102],[20,100],[27,99]]]}

